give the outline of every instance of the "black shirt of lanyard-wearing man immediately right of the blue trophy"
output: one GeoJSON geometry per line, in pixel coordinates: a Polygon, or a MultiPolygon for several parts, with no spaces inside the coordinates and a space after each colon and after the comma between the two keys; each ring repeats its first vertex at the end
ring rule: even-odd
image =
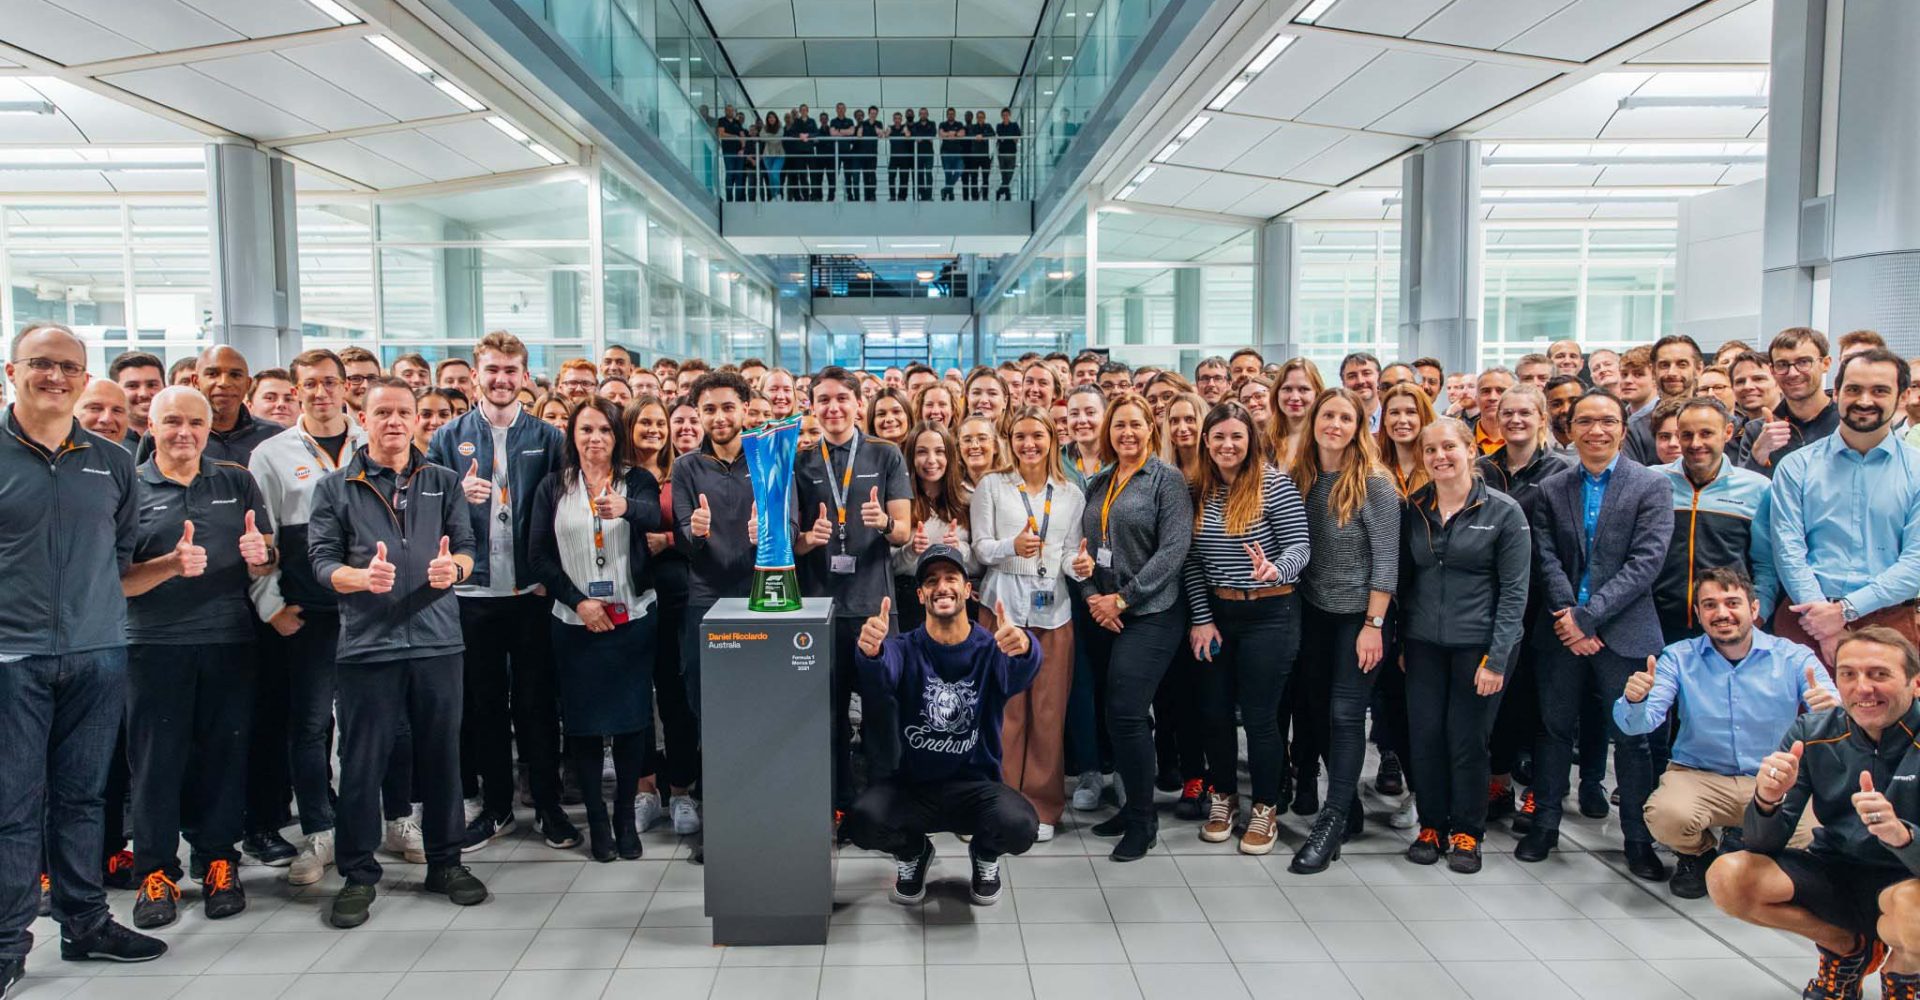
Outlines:
{"type": "Polygon", "coordinates": [[[879,599],[893,595],[893,568],[889,566],[893,545],[887,536],[860,520],[860,505],[868,501],[876,486],[883,507],[887,501],[912,497],[906,484],[906,459],[900,457],[900,449],[858,432],[841,445],[822,438],[820,445],[801,451],[799,463],[793,466],[797,532],[814,526],[822,503],[828,507],[828,518],[833,518],[833,489],[847,472],[847,453],[854,451],[854,441],[858,441],[858,451],[854,453],[852,482],[847,486],[847,537],[841,539],[835,534],[824,547],[799,557],[801,589],[808,597],[831,597],[835,618],[870,618],[879,614],[879,599]],[[833,463],[831,470],[820,459],[822,447],[833,463]],[[835,555],[854,557],[854,572],[831,572],[831,557],[835,555]]]}

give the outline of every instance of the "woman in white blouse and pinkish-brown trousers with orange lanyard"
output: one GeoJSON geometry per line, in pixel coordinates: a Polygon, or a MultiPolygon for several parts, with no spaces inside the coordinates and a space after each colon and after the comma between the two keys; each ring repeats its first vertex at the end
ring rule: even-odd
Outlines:
{"type": "MultiPolygon", "coordinates": [[[[1006,607],[1014,624],[1041,645],[1041,674],[1006,702],[1000,722],[1000,777],[1033,802],[1041,841],[1054,835],[1066,808],[1068,693],[1073,687],[1073,605],[1068,564],[1081,545],[1087,499],[1060,464],[1050,413],[1014,413],[1012,464],[973,489],[973,555],[987,568],[979,587],[985,608],[1006,607]]],[[[998,626],[981,612],[987,630],[998,626]]]]}

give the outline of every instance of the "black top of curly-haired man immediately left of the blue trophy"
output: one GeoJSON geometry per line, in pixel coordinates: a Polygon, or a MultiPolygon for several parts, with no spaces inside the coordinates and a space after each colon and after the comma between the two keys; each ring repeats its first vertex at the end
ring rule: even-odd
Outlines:
{"type": "Polygon", "coordinates": [[[747,541],[747,522],[753,520],[753,482],[747,474],[747,449],[732,463],[714,457],[710,443],[674,459],[674,547],[687,553],[693,580],[687,585],[689,608],[710,608],[722,597],[747,597],[753,587],[755,545],[747,541]],[[693,509],[707,495],[712,509],[712,530],[693,537],[693,509]]]}

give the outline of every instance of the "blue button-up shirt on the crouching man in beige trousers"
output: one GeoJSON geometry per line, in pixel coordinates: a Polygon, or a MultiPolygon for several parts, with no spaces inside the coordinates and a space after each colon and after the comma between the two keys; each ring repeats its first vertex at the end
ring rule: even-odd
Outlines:
{"type": "Polygon", "coordinates": [[[1674,764],[1724,775],[1759,774],[1761,760],[1780,749],[1780,735],[1805,704],[1809,666],[1814,683],[1837,701],[1820,660],[1795,641],[1753,630],[1753,649],[1736,666],[1711,637],[1695,635],[1661,651],[1653,691],[1642,702],[1615,699],[1613,722],[1626,735],[1651,733],[1678,701],[1674,764]]]}

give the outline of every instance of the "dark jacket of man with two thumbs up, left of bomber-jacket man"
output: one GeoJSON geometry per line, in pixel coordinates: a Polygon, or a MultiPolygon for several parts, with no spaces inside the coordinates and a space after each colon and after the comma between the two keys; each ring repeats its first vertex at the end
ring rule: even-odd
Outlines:
{"type": "Polygon", "coordinates": [[[367,568],[380,541],[394,564],[392,591],[340,595],[338,662],[413,660],[465,649],[453,587],[426,585],[426,564],[440,555],[442,536],[453,555],[474,559],[467,507],[461,474],[430,464],[419,449],[405,470],[394,472],[367,459],[361,447],[313,488],[307,557],[323,585],[332,585],[342,566],[367,568]]]}

